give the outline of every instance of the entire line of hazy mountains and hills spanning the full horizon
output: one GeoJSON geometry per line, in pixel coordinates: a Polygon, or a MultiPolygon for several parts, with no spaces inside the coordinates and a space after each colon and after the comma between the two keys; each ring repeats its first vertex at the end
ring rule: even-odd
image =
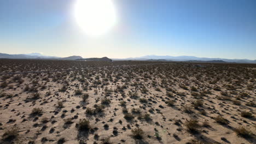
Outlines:
{"type": "MultiPolygon", "coordinates": [[[[106,61],[106,58],[83,58],[81,56],[70,57],[55,57],[45,56],[42,53],[28,53],[28,54],[16,54],[9,55],[7,53],[0,53],[0,58],[10,59],[62,59],[62,60],[87,60],[87,61],[106,61]]],[[[114,61],[190,61],[190,62],[230,62],[230,63],[256,63],[251,59],[226,59],[226,58],[207,58],[207,57],[194,57],[194,56],[156,56],[147,55],[142,57],[130,57],[130,58],[112,58],[114,61]]]]}

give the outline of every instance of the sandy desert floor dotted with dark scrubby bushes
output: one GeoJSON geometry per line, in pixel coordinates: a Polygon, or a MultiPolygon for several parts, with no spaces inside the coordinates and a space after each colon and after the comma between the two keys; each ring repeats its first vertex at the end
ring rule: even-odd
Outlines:
{"type": "Polygon", "coordinates": [[[0,75],[0,143],[256,143],[253,64],[2,59],[0,67],[92,68],[0,75]]]}

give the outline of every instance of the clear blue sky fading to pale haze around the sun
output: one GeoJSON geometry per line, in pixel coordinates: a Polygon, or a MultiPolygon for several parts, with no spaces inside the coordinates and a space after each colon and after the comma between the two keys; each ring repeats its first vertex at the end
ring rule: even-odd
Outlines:
{"type": "Polygon", "coordinates": [[[97,37],[78,26],[76,0],[0,1],[0,53],[256,59],[255,0],[112,1],[117,23],[97,37]]]}

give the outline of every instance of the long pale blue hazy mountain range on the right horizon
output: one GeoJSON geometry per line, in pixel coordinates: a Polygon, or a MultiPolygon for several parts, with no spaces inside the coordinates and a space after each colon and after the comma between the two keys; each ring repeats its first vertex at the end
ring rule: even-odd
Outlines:
{"type": "Polygon", "coordinates": [[[225,58],[206,58],[206,57],[194,57],[194,56],[156,56],[148,55],[142,57],[125,58],[125,59],[114,59],[114,60],[137,60],[137,61],[148,61],[152,59],[165,59],[166,61],[224,61],[231,63],[256,63],[256,60],[250,59],[225,59],[225,58]]]}

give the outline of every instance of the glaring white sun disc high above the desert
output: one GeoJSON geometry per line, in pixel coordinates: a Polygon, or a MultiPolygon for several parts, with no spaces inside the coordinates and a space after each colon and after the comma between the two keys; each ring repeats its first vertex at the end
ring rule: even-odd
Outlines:
{"type": "Polygon", "coordinates": [[[117,23],[113,0],[77,0],[74,15],[88,35],[102,35],[117,23]]]}

